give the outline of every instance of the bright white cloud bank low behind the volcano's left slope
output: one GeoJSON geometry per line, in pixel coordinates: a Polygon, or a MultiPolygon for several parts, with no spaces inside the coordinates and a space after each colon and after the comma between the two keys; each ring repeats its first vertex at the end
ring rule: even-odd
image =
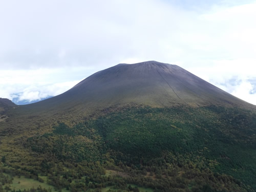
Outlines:
{"type": "Polygon", "coordinates": [[[59,95],[89,76],[90,68],[0,70],[0,96],[35,101],[59,95]],[[73,80],[72,80],[73,79],[73,80]],[[76,80],[79,79],[79,80],[76,80]]]}

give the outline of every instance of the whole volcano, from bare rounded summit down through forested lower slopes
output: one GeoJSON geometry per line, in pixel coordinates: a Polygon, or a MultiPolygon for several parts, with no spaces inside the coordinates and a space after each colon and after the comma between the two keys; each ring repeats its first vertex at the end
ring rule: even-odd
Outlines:
{"type": "Polygon", "coordinates": [[[0,191],[256,190],[255,105],[178,66],[119,64],[56,97],[3,103],[0,191]]]}

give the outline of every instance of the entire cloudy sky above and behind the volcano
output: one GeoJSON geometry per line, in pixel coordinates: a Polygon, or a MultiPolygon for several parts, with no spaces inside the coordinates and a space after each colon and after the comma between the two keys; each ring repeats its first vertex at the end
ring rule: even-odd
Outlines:
{"type": "Polygon", "coordinates": [[[34,102],[156,60],[256,104],[255,10],[249,0],[0,0],[0,97],[34,102]]]}

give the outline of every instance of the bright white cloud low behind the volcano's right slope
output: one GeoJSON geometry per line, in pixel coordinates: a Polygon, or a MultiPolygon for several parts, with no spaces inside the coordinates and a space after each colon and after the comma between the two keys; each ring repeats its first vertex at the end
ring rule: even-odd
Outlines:
{"type": "Polygon", "coordinates": [[[220,89],[256,105],[256,59],[214,60],[212,66],[190,67],[187,70],[220,89]],[[253,94],[254,93],[254,94],[253,94]]]}

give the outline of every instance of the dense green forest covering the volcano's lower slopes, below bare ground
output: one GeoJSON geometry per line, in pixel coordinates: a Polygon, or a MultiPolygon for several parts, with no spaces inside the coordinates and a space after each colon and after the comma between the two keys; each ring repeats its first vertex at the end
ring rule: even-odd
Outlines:
{"type": "Polygon", "coordinates": [[[134,105],[58,122],[2,143],[0,191],[255,191],[255,115],[134,105]]]}

